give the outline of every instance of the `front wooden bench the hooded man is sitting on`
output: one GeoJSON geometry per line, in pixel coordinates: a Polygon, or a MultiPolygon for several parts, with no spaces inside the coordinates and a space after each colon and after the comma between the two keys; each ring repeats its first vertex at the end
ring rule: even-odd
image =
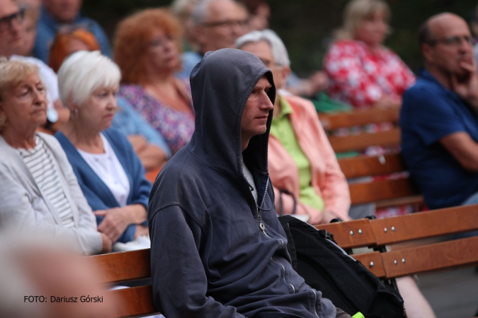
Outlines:
{"type": "MultiPolygon", "coordinates": [[[[478,205],[414,213],[382,220],[353,220],[319,225],[334,234],[344,249],[383,247],[426,237],[478,230],[478,205]],[[386,230],[385,230],[386,229],[386,230]]],[[[414,273],[478,264],[478,237],[432,243],[423,246],[370,252],[353,257],[376,276],[389,279],[414,273]]],[[[121,283],[151,277],[149,249],[89,257],[103,272],[103,283],[121,283]]],[[[120,299],[121,317],[142,317],[157,313],[149,283],[112,290],[120,299]]]]}

